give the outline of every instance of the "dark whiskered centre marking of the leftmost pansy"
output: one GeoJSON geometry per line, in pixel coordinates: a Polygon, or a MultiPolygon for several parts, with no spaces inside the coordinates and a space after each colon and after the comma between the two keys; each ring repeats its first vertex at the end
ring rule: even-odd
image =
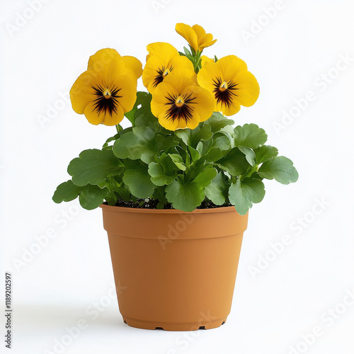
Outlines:
{"type": "Polygon", "coordinates": [[[113,113],[117,113],[118,108],[118,93],[121,89],[118,89],[116,86],[113,86],[112,89],[108,87],[103,87],[98,85],[97,87],[92,86],[92,89],[95,91],[94,95],[96,98],[93,100],[93,112],[96,111],[97,114],[101,112],[109,113],[112,117],[113,113]]]}

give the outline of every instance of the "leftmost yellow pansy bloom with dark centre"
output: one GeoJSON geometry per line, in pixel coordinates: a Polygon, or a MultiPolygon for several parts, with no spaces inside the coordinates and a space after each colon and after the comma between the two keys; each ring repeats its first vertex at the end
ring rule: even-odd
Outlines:
{"type": "Polygon", "coordinates": [[[135,104],[141,72],[138,59],[121,57],[111,49],[99,50],[70,90],[72,108],[93,125],[117,125],[135,104]]]}

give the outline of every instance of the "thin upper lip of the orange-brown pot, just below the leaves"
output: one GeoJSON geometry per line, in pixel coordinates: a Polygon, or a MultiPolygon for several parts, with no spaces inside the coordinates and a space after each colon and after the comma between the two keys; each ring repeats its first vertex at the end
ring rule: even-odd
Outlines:
{"type": "MultiPolygon", "coordinates": [[[[193,212],[183,212],[178,209],[149,209],[141,207],[118,207],[115,205],[101,204],[100,207],[106,210],[115,210],[120,212],[137,212],[137,213],[150,213],[150,214],[207,214],[211,212],[236,212],[234,205],[230,207],[212,207],[207,209],[195,209],[193,212]]],[[[248,212],[247,212],[248,214],[248,212]]]]}

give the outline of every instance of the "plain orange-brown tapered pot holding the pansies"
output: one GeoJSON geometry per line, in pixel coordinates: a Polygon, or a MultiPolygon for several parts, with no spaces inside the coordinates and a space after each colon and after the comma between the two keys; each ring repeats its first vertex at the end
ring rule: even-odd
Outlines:
{"type": "Polygon", "coordinates": [[[101,205],[126,324],[212,329],[229,315],[248,214],[101,205]]]}

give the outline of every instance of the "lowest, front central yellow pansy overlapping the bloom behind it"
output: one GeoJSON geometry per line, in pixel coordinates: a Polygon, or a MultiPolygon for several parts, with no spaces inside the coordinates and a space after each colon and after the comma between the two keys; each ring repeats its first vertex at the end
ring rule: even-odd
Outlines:
{"type": "Polygon", "coordinates": [[[185,76],[167,76],[152,94],[152,114],[168,130],[194,129],[210,118],[214,107],[212,93],[185,76]]]}

